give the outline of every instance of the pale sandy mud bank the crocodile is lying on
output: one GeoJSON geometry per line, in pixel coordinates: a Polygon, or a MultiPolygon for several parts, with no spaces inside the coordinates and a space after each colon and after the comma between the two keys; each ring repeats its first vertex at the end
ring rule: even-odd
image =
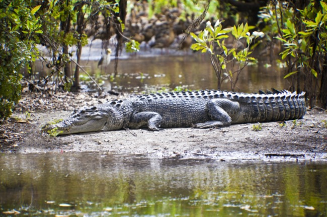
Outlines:
{"type": "MultiPolygon", "coordinates": [[[[89,100],[92,97],[87,94],[78,96],[66,94],[64,97],[61,96],[66,100],[60,101],[61,103],[55,102],[61,100],[60,96],[56,98],[52,96],[48,101],[46,101],[48,97],[44,95],[43,98],[23,97],[21,108],[32,110],[31,116],[26,119],[26,113],[21,109],[22,111],[14,113],[15,119],[2,125],[0,130],[7,129],[8,132],[11,131],[12,137],[17,137],[8,144],[10,147],[2,145],[2,151],[100,152],[142,154],[158,158],[216,158],[222,161],[235,159],[327,161],[327,112],[315,109],[308,110],[303,119],[295,122],[262,123],[260,131],[253,130],[253,126],[258,124],[238,124],[218,129],[173,128],[158,132],[133,129],[58,137],[50,137],[40,131],[45,123],[68,117],[72,109],[80,107],[82,102],[86,105],[95,103],[89,100]],[[33,112],[33,109],[45,111],[33,112]]],[[[98,103],[106,100],[108,96],[97,97],[98,103]]]]}

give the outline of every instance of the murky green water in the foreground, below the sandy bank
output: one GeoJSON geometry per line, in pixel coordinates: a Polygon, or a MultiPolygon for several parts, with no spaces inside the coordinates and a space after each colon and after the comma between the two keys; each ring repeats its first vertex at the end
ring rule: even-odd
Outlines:
{"type": "Polygon", "coordinates": [[[0,215],[15,211],[17,216],[326,216],[327,164],[1,155],[0,215]]]}

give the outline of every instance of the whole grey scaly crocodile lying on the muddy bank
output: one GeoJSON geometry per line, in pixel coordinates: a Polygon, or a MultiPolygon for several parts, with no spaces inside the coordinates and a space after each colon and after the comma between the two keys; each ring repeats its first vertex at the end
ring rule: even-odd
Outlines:
{"type": "Polygon", "coordinates": [[[300,119],[304,92],[286,90],[259,94],[217,90],[138,95],[75,110],[67,119],[43,130],[59,134],[142,128],[211,128],[230,124],[300,119]]]}

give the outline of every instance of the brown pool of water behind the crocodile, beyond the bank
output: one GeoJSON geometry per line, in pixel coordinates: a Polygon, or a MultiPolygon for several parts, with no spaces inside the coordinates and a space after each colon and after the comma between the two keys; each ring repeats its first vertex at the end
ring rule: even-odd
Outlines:
{"type": "MultiPolygon", "coordinates": [[[[263,60],[258,65],[244,68],[237,82],[241,92],[258,92],[259,89],[266,90],[272,87],[287,88],[287,82],[283,79],[283,69],[276,63],[266,67],[266,63],[267,61],[263,60]]],[[[162,87],[174,89],[177,86],[191,90],[217,89],[217,78],[208,55],[132,56],[119,61],[119,74],[113,81],[110,75],[113,75],[114,64],[110,64],[107,68],[98,68],[97,64],[97,61],[81,62],[86,71],[96,75],[95,77],[101,77],[105,88],[116,91],[141,92],[162,87]]],[[[49,73],[49,69],[40,63],[36,64],[35,71],[49,73]]],[[[87,78],[83,72],[81,75],[87,78]]],[[[226,81],[222,89],[230,90],[230,84],[226,81]]]]}

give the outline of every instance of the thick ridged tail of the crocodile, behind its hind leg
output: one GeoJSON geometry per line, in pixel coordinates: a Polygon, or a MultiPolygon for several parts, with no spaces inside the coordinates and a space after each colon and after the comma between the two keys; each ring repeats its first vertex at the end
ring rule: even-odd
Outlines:
{"type": "MultiPolygon", "coordinates": [[[[245,94],[238,99],[240,106],[239,120],[244,122],[268,122],[300,119],[304,116],[305,92],[297,94],[287,90],[245,94]]],[[[235,97],[235,96],[234,96],[235,97]]]]}

